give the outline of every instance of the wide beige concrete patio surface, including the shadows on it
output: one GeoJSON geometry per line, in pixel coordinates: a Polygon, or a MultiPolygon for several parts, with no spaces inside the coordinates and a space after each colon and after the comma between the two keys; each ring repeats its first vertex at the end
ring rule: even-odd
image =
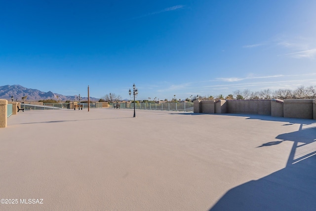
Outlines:
{"type": "Polygon", "coordinates": [[[136,115],[90,109],[11,116],[0,128],[0,199],[18,203],[0,210],[315,210],[315,120],[136,115]]]}

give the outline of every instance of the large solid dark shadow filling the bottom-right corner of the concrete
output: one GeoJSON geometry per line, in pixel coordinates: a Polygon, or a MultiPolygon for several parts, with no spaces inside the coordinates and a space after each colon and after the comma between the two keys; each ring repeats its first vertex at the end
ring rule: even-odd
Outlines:
{"type": "Polygon", "coordinates": [[[315,211],[316,157],[229,190],[209,211],[315,211]]]}

